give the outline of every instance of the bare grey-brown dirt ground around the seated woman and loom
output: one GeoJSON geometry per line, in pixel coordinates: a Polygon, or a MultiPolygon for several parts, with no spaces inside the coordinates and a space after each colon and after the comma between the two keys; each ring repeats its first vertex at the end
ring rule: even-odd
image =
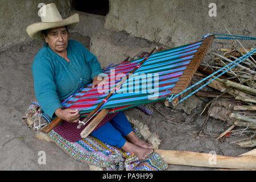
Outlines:
{"type": "MultiPolygon", "coordinates": [[[[89,39],[73,34],[84,46],[89,46],[89,39]]],[[[21,117],[31,101],[35,100],[31,75],[31,64],[36,52],[43,43],[31,41],[0,52],[0,170],[89,170],[85,163],[77,162],[64,153],[54,143],[35,138],[35,132],[26,129],[21,117]],[[46,152],[46,165],[38,164],[38,152],[46,152]]],[[[157,133],[162,139],[159,146],[165,150],[185,150],[194,152],[216,151],[218,155],[237,156],[247,152],[249,148],[239,148],[229,144],[239,139],[229,137],[222,140],[215,138],[228,126],[213,118],[209,118],[204,129],[204,136],[198,136],[205,115],[199,116],[206,100],[193,97],[177,109],[164,107],[163,102],[156,102],[146,107],[154,111],[148,116],[138,109],[125,111],[129,117],[146,123],[150,131],[157,133]],[[162,114],[179,121],[176,125],[164,122],[162,114]]],[[[214,170],[211,168],[174,166],[171,170],[214,170]]]]}

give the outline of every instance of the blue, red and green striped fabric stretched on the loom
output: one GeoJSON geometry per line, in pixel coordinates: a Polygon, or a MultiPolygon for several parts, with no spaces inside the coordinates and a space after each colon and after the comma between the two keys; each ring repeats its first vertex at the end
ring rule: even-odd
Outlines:
{"type": "MultiPolygon", "coordinates": [[[[108,99],[101,109],[110,109],[109,113],[114,113],[119,110],[166,99],[170,96],[171,90],[183,75],[188,64],[191,63],[191,60],[200,48],[202,42],[203,41],[200,41],[152,54],[150,58],[137,69],[135,74],[124,82],[120,90],[117,90],[116,93],[108,99]],[[158,73],[159,88],[158,97],[156,99],[148,99],[150,96],[154,95],[152,94],[154,88],[151,90],[146,89],[146,92],[127,92],[131,91],[130,89],[145,90],[143,86],[147,84],[145,84],[145,80],[142,80],[141,77],[143,74],[149,73],[158,73]],[[130,85],[130,83],[134,85],[130,85]]],[[[106,84],[116,85],[120,81],[116,79],[118,74],[122,73],[123,75],[127,75],[139,65],[142,60],[143,59],[123,61],[118,65],[109,66],[104,70],[104,73],[110,78],[110,81],[106,84]],[[111,72],[113,69],[115,70],[114,73],[111,72]],[[115,78],[114,81],[111,81],[112,78],[115,78]]],[[[110,91],[110,89],[108,91],[110,91]]],[[[72,97],[65,100],[63,107],[79,109],[82,117],[86,117],[86,115],[93,111],[107,95],[108,92],[99,93],[98,87],[92,89],[92,84],[89,84],[81,88],[79,92],[72,97]]]]}

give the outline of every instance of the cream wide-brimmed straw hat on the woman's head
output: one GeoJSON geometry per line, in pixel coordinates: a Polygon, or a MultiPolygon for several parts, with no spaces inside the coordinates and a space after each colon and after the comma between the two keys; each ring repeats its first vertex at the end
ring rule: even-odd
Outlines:
{"type": "Polygon", "coordinates": [[[63,19],[55,3],[44,5],[39,10],[42,22],[32,23],[27,26],[27,34],[32,39],[43,40],[42,30],[67,26],[75,28],[79,24],[79,14],[75,13],[63,19]]]}

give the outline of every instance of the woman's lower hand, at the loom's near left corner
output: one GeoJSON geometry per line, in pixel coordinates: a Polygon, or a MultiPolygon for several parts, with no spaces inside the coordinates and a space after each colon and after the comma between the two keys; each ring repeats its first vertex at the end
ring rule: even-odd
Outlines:
{"type": "Polygon", "coordinates": [[[58,118],[63,119],[64,121],[77,123],[80,118],[78,109],[56,109],[55,114],[58,118]]]}

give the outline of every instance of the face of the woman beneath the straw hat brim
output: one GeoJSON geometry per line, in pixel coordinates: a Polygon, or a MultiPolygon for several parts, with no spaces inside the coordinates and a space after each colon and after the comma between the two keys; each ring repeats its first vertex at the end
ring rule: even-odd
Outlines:
{"type": "Polygon", "coordinates": [[[66,27],[52,28],[44,39],[53,51],[63,52],[68,46],[68,30],[66,27]]]}

